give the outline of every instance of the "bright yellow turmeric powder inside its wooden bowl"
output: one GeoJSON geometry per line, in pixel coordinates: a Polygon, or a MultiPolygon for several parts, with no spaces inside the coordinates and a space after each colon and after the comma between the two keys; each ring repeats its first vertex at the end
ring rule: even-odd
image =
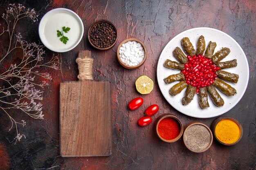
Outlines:
{"type": "Polygon", "coordinates": [[[215,128],[216,137],[225,144],[234,144],[241,135],[241,130],[235,121],[221,120],[215,128]]]}

